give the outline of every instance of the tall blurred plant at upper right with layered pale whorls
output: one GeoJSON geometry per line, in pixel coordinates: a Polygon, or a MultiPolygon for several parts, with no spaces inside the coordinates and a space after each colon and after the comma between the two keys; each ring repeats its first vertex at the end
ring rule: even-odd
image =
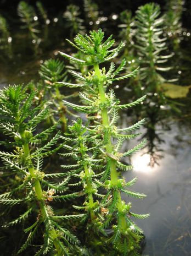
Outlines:
{"type": "Polygon", "coordinates": [[[135,24],[139,79],[144,91],[160,93],[160,84],[166,80],[161,72],[171,69],[166,64],[173,54],[164,53],[167,50],[166,37],[163,35],[165,23],[159,5],[149,3],[139,7],[135,24]]]}

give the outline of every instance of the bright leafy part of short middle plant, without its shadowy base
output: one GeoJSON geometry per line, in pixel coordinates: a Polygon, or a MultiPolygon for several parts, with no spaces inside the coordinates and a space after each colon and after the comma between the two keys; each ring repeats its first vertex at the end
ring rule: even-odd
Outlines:
{"type": "MultiPolygon", "coordinates": [[[[89,149],[88,144],[91,144],[95,137],[91,136],[91,131],[87,132],[87,128],[82,125],[82,120],[77,119],[74,122],[73,126],[69,126],[69,134],[66,134],[65,137],[62,137],[66,144],[64,148],[69,150],[69,153],[64,155],[70,155],[75,164],[73,165],[63,165],[62,167],[65,170],[70,169],[69,175],[74,176],[80,179],[78,183],[71,184],[71,186],[82,186],[83,194],[86,199],[83,203],[84,206],[80,206],[81,210],[86,211],[85,218],[91,219],[92,222],[95,222],[96,216],[95,211],[98,208],[97,202],[94,201],[93,197],[100,198],[102,195],[98,194],[98,183],[96,182],[96,177],[102,176],[102,173],[95,175],[93,170],[97,170],[100,166],[102,160],[95,159],[95,154],[89,156],[88,152],[94,148],[89,149]]],[[[94,149],[96,152],[96,150],[94,149]]],[[[78,206],[75,206],[78,209],[78,206]]]]}

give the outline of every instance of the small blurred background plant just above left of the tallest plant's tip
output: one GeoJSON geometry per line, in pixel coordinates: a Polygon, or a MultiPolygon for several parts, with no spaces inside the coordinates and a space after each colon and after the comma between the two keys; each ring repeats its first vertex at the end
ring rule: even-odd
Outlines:
{"type": "Polygon", "coordinates": [[[75,4],[70,4],[67,6],[63,17],[66,19],[66,25],[70,28],[71,37],[76,35],[78,32],[85,31],[83,24],[83,20],[80,18],[80,8],[75,6],[75,4]]]}

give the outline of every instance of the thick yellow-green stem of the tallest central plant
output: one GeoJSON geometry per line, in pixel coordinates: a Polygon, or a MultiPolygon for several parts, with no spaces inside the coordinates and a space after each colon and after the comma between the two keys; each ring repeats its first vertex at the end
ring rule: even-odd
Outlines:
{"type": "MultiPolygon", "coordinates": [[[[98,81],[99,96],[100,96],[100,100],[103,104],[102,122],[103,122],[104,128],[107,129],[107,128],[109,128],[109,115],[108,115],[106,106],[104,106],[104,105],[106,105],[106,96],[105,96],[105,90],[104,90],[104,86],[103,86],[103,82],[102,82],[102,73],[100,72],[100,69],[99,69],[99,64],[94,64],[94,70],[95,70],[95,74],[97,75],[97,78],[99,80],[98,81]]],[[[111,154],[113,152],[113,144],[111,142],[111,134],[109,132],[105,132],[104,137],[105,137],[104,139],[108,142],[108,144],[106,144],[106,152],[108,154],[111,154]]],[[[119,176],[118,176],[118,173],[116,170],[116,161],[114,159],[110,159],[110,177],[111,177],[111,184],[113,184],[115,186],[117,184],[119,176]]],[[[117,209],[119,210],[119,212],[121,212],[123,209],[123,203],[121,200],[120,191],[118,192],[117,209]]],[[[121,230],[125,231],[127,228],[125,216],[123,216],[123,215],[120,216],[119,222],[121,223],[121,225],[120,225],[121,230]]]]}

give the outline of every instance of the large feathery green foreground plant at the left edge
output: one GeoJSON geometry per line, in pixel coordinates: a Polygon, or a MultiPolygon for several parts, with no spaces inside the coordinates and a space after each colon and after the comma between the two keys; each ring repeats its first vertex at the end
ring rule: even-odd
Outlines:
{"type": "Polygon", "coordinates": [[[25,212],[4,226],[21,224],[36,215],[33,224],[24,230],[29,235],[18,254],[30,246],[37,233],[43,230],[44,242],[36,256],[47,253],[69,255],[78,240],[60,226],[60,220],[70,219],[70,216],[54,215],[50,203],[75,197],[76,194],[63,194],[68,178],[60,183],[56,181],[64,176],[63,173],[45,174],[42,170],[44,157],[57,152],[62,144],[56,145],[59,133],[49,139],[55,126],[39,132],[38,124],[47,118],[49,109],[46,104],[32,107],[35,95],[35,91],[27,94],[21,85],[8,86],[0,91],[0,128],[5,135],[3,144],[10,149],[8,152],[1,151],[0,156],[5,168],[12,170],[10,175],[19,177],[18,186],[0,195],[0,203],[9,207],[25,205],[25,212]]]}

